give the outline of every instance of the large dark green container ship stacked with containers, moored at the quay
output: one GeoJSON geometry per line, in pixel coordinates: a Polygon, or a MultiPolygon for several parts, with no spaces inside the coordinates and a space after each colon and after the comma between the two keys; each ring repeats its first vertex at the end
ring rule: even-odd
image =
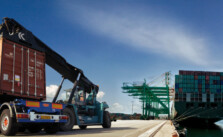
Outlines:
{"type": "Polygon", "coordinates": [[[179,71],[175,75],[175,121],[211,125],[223,119],[223,72],[179,71]]]}

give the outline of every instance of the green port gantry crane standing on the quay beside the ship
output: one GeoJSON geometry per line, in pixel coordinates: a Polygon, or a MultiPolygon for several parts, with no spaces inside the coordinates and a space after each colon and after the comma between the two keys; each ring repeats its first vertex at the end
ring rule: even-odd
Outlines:
{"type": "Polygon", "coordinates": [[[146,80],[144,82],[123,83],[123,93],[127,93],[142,102],[142,119],[158,118],[159,114],[170,116],[169,102],[173,98],[170,97],[172,90],[169,88],[169,79],[170,72],[166,72],[149,83],[146,80]],[[163,82],[165,82],[165,86],[160,86],[163,82]]]}

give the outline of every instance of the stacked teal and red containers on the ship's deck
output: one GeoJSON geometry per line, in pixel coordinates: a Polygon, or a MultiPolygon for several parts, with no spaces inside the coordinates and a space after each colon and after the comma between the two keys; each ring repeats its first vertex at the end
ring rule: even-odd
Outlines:
{"type": "Polygon", "coordinates": [[[176,101],[222,102],[223,72],[180,70],[175,92],[176,101]]]}

